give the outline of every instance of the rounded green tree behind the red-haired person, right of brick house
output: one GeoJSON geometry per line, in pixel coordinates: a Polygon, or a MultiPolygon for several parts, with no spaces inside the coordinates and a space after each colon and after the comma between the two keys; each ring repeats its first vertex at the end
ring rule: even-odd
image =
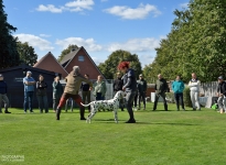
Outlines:
{"type": "Polygon", "coordinates": [[[142,73],[138,55],[122,50],[112,52],[108,59],[105,63],[100,63],[98,67],[107,79],[114,79],[116,78],[117,67],[120,62],[130,62],[130,67],[136,70],[137,77],[142,73]]]}

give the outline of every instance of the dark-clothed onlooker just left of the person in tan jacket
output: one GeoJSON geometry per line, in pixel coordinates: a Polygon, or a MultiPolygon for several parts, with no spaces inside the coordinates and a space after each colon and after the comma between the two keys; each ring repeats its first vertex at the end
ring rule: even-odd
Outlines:
{"type": "Polygon", "coordinates": [[[63,95],[63,91],[64,91],[63,86],[60,82],[60,77],[58,76],[56,76],[54,78],[54,81],[53,81],[52,86],[53,86],[53,111],[56,112],[56,108],[60,103],[60,99],[61,99],[61,97],[63,95]]]}

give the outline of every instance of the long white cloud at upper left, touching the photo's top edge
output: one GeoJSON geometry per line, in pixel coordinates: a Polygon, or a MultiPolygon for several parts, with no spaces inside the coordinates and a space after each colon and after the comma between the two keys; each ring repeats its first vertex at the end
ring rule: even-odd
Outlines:
{"type": "Polygon", "coordinates": [[[76,0],[65,3],[63,7],[56,8],[54,4],[40,4],[37,11],[49,11],[53,13],[62,13],[64,11],[80,12],[84,10],[92,10],[94,0],[76,0]]]}

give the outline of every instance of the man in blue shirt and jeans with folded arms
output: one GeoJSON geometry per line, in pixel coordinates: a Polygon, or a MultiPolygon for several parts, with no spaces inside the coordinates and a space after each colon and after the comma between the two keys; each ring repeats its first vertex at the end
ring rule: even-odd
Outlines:
{"type": "Polygon", "coordinates": [[[23,110],[26,113],[26,105],[29,102],[29,110],[33,113],[32,110],[32,100],[34,95],[34,85],[35,80],[31,77],[32,73],[30,70],[26,72],[26,77],[23,78],[24,85],[24,102],[23,102],[23,110]]]}

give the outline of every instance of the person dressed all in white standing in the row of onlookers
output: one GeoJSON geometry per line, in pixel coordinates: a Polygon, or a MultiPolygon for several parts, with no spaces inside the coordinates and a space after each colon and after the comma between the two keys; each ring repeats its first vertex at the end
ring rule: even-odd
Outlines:
{"type": "Polygon", "coordinates": [[[192,79],[189,82],[189,87],[190,87],[190,97],[192,100],[192,107],[193,110],[201,110],[201,106],[200,106],[200,87],[201,86],[201,81],[197,79],[197,76],[195,73],[192,73],[192,79]]]}

